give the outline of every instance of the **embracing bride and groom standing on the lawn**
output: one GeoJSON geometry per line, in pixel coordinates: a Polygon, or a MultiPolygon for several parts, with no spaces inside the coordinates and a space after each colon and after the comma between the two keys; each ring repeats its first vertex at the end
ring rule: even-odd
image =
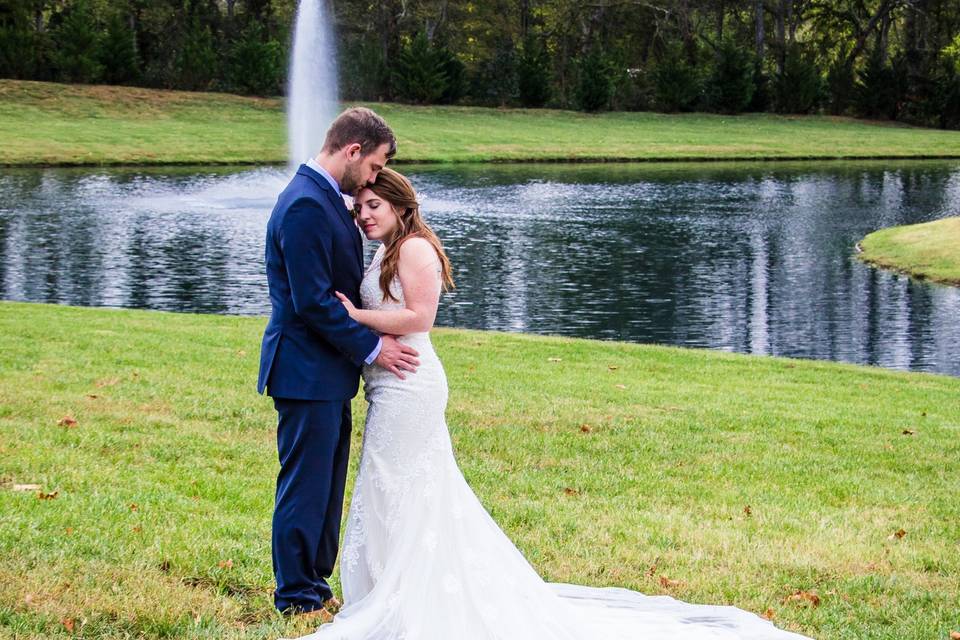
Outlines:
{"type": "Polygon", "coordinates": [[[272,314],[258,388],[279,415],[277,608],[333,617],[317,640],[802,638],[734,607],[537,575],[457,467],[446,376],[430,342],[450,262],[413,186],[386,168],[395,153],[377,114],[343,112],[267,225],[272,314]],[[381,243],[366,269],[361,233],[381,243]],[[340,554],[341,608],[327,580],[361,372],[369,407],[340,554]]]}

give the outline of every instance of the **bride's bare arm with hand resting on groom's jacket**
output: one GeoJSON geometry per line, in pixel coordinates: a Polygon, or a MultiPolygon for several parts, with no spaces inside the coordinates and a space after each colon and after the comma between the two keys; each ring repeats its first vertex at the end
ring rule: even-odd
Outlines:
{"type": "Polygon", "coordinates": [[[400,245],[397,275],[403,287],[404,309],[357,309],[340,293],[350,317],[380,333],[403,336],[429,331],[440,302],[440,260],[423,238],[410,238],[400,245]]]}

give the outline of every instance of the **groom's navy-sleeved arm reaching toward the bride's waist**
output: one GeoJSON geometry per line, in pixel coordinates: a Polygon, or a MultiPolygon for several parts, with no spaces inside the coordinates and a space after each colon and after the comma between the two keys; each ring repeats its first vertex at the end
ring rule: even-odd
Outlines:
{"type": "Polygon", "coordinates": [[[380,338],[350,318],[333,295],[333,232],[326,212],[312,200],[297,200],[284,215],[279,240],[297,315],[354,364],[376,359],[380,338]]]}

